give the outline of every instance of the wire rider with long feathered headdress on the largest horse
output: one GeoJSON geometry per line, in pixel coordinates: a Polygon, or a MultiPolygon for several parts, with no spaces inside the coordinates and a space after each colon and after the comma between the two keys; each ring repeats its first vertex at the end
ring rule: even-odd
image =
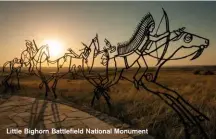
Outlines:
{"type": "MultiPolygon", "coordinates": [[[[163,34],[157,35],[152,34],[155,29],[155,21],[150,13],[148,13],[141,21],[139,30],[136,30],[134,36],[131,37],[131,40],[117,45],[117,52],[115,56],[118,55],[127,55],[131,51],[138,51],[139,53],[145,52],[145,50],[149,50],[152,46],[153,42],[158,42],[164,38],[166,38],[170,32],[165,32],[163,34]],[[144,30],[144,32],[143,32],[144,30]],[[139,36],[141,35],[141,36],[139,36]]],[[[105,43],[108,48],[112,48],[112,50],[116,51],[116,46],[111,46],[110,42],[105,39],[105,43]],[[108,42],[108,43],[107,43],[108,42]]],[[[113,51],[111,52],[113,53],[113,51]]]]}

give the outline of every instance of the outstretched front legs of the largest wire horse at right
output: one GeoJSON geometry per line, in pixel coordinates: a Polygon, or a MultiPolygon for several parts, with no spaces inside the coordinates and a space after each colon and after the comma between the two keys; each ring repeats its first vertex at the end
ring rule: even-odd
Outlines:
{"type": "Polygon", "coordinates": [[[208,139],[207,134],[200,125],[201,121],[209,120],[204,114],[199,112],[196,108],[190,105],[186,100],[184,100],[176,91],[171,90],[165,86],[162,86],[156,82],[149,82],[151,85],[148,87],[141,83],[142,87],[147,91],[157,95],[166,104],[168,104],[180,117],[183,125],[185,127],[185,136],[190,138],[189,130],[192,130],[192,127],[197,127],[203,137],[208,139]],[[150,88],[151,87],[151,88],[150,88]],[[158,89],[156,89],[158,88],[158,89]],[[160,90],[160,91],[158,91],[160,90]]]}

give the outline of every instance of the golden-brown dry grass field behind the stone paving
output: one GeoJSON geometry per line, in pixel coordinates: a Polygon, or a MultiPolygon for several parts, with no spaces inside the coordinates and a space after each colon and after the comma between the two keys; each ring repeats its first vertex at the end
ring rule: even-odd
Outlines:
{"type": "MultiPolygon", "coordinates": [[[[216,75],[194,75],[198,67],[177,67],[162,69],[158,82],[179,92],[190,104],[210,118],[203,127],[210,139],[216,138],[216,75]]],[[[204,67],[216,71],[215,67],[204,67]]],[[[127,72],[132,76],[134,69],[127,72]]],[[[1,77],[2,79],[2,77],[1,77]]],[[[21,76],[21,90],[16,95],[44,97],[44,90],[38,88],[37,77],[21,76]]],[[[3,87],[1,87],[1,90],[3,87]]],[[[70,75],[59,81],[57,93],[59,99],[67,99],[78,105],[88,105],[93,96],[93,86],[84,79],[72,79],[70,75]]],[[[148,128],[149,134],[156,139],[183,138],[184,130],[177,114],[161,99],[144,89],[136,90],[126,80],[120,81],[110,90],[112,111],[101,99],[96,101],[94,109],[130,124],[133,128],[148,128]]],[[[52,97],[52,93],[49,94],[52,97]]],[[[194,137],[198,138],[198,136],[194,137]]]]}

